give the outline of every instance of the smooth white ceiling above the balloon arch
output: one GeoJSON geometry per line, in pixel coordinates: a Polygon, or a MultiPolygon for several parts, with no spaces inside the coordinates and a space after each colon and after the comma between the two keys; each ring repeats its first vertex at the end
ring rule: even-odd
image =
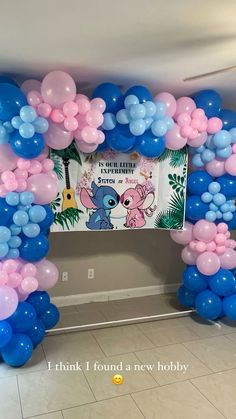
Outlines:
{"type": "Polygon", "coordinates": [[[217,88],[234,105],[235,0],[7,0],[0,12],[0,71],[19,80],[64,69],[90,89],[143,83],[176,95],[217,88]]]}

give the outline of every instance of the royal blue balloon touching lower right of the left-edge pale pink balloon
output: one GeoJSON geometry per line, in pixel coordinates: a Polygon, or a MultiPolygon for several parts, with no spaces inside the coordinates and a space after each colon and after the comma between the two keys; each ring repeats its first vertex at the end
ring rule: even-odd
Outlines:
{"type": "Polygon", "coordinates": [[[36,321],[36,311],[32,304],[21,302],[18,304],[16,311],[7,319],[13,332],[24,333],[32,329],[36,321]]]}

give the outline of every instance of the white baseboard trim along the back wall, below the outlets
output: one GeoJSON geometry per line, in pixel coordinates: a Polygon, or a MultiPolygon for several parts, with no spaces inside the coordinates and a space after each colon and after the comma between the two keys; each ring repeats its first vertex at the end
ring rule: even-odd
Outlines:
{"type": "Polygon", "coordinates": [[[51,301],[58,307],[65,307],[101,301],[123,300],[127,298],[146,297],[148,295],[176,292],[179,285],[180,284],[161,284],[152,285],[149,287],[90,292],[88,294],[66,295],[64,297],[51,297],[51,301]]]}

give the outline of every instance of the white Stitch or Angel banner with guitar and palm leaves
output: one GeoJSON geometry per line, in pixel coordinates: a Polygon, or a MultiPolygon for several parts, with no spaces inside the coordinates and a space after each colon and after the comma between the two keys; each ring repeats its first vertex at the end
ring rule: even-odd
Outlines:
{"type": "Polygon", "coordinates": [[[185,149],[152,160],[111,150],[85,155],[72,143],[51,158],[59,182],[51,231],[183,228],[185,149]]]}

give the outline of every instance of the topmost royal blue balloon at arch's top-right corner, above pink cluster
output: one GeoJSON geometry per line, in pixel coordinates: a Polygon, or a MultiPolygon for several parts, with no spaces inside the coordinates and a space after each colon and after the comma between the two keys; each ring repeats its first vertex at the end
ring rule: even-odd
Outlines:
{"type": "Polygon", "coordinates": [[[197,108],[204,110],[207,118],[219,116],[222,100],[215,90],[200,90],[193,95],[193,100],[197,108]]]}

